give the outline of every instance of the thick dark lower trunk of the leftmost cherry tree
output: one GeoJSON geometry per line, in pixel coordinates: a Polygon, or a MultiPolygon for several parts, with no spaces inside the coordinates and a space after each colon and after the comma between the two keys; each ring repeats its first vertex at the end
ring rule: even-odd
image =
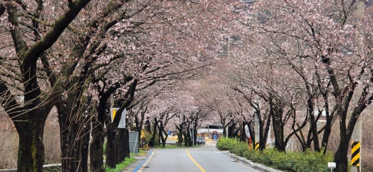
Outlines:
{"type": "MultiPolygon", "coordinates": [[[[35,82],[31,85],[37,86],[36,77],[34,78],[35,82]]],[[[45,107],[52,105],[41,107],[38,96],[40,89],[30,89],[32,88],[26,90],[25,104],[21,106],[3,80],[0,80],[0,103],[13,120],[19,136],[17,171],[42,171],[44,164],[44,126],[50,110],[45,107]],[[28,112],[23,113],[25,111],[28,112]]]]}

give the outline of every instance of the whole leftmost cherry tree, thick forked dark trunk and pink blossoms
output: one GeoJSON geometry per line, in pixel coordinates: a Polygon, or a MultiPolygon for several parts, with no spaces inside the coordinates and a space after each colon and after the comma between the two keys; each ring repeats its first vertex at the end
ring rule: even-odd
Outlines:
{"type": "Polygon", "coordinates": [[[38,68],[42,67],[41,61],[44,57],[50,55],[48,50],[89,1],[69,1],[63,11],[47,21],[44,16],[52,13],[54,6],[49,3],[0,3],[1,23],[4,26],[2,38],[5,38],[2,42],[7,45],[7,48],[3,49],[2,59],[4,64],[14,66],[2,68],[2,72],[5,72],[1,79],[2,106],[14,121],[19,133],[18,171],[42,170],[45,120],[56,103],[57,96],[61,94],[61,89],[55,83],[46,84],[45,79],[38,80],[43,76],[48,77],[46,73],[49,72],[46,68],[42,75],[38,74],[38,68]],[[44,11],[47,12],[43,13],[44,11]],[[17,102],[17,96],[22,96],[23,100],[17,102]]]}

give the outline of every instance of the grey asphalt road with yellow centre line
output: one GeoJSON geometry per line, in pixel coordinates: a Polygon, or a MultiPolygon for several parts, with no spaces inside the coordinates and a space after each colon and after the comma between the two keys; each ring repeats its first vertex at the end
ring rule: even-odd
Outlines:
{"type": "Polygon", "coordinates": [[[258,172],[258,170],[218,152],[215,144],[206,144],[195,148],[153,149],[152,154],[138,171],[258,172]]]}

